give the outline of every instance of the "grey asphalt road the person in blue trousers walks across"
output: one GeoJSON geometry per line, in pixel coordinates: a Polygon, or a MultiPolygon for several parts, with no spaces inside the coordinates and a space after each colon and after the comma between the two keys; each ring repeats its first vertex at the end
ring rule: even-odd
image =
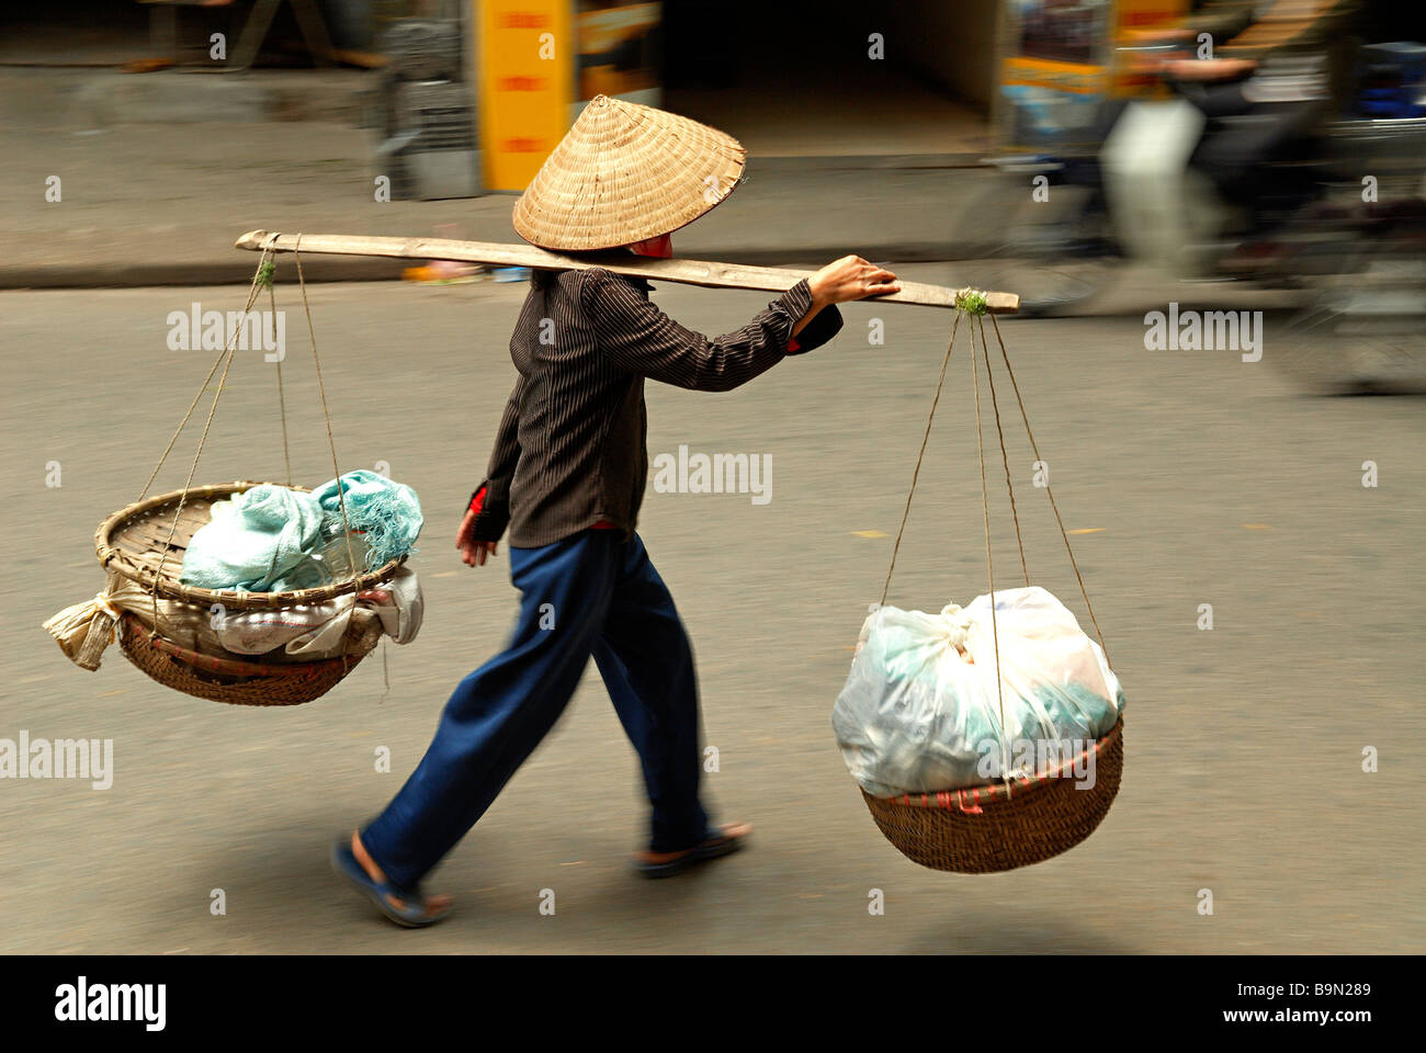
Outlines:
{"type": "MultiPolygon", "coordinates": [[[[938,283],[957,274],[903,270],[938,283]]],[[[1095,531],[1074,542],[1128,695],[1125,782],[1071,853],[1002,876],[943,875],[880,836],[829,726],[880,592],[950,328],[945,312],[870,305],[847,308],[834,345],[736,392],[649,390],[650,452],[687,442],[773,458],[767,505],[650,492],[640,524],[700,659],[706,736],[720,756],[710,802],[756,825],[750,850],[677,880],[629,873],[645,805],[633,753],[590,676],[434,875],[459,913],[422,933],[386,926],[331,878],[327,843],[395,792],[451,686],[508,631],[503,552],[471,571],[451,534],[513,377],[506,341],[522,294],[493,284],[312,291],[344,467],[386,461],[424,499],[412,565],[428,616],[416,642],[389,649],[385,698],[375,656],[312,705],[255,711],[165,691],[117,649],[84,673],[40,629],[98,589],[94,524],[137,495],[205,371],[207,355],[167,350],[168,311],[193,300],[235,310],[238,290],[0,292],[10,495],[0,736],[113,738],[116,752],[108,790],[0,782],[0,950],[1426,945],[1426,776],[1413,749],[1426,735],[1415,646],[1426,615],[1419,402],[1305,397],[1272,368],[1286,350],[1273,317],[1258,364],[1229,351],[1148,352],[1135,318],[1007,322],[1067,526],[1095,531]],[[886,347],[866,344],[873,317],[886,321],[886,347]],[[1379,465],[1375,489],[1362,487],[1366,459],[1379,465]],[[58,488],[44,485],[51,461],[58,488]],[[1196,628],[1201,604],[1214,605],[1212,631],[1196,628]],[[391,749],[391,773],[374,770],[378,746],[391,749]],[[1379,752],[1375,773],[1362,770],[1366,748],[1379,752]],[[214,889],[225,916],[210,913],[214,889]],[[555,916],[539,912],[545,889],[555,916]],[[886,895],[884,916],[867,912],[871,889],[886,895]],[[1212,916],[1199,913],[1202,889],[1212,916]]],[[[297,308],[291,288],[279,297],[297,308]]],[[[766,297],[666,287],[656,300],[722,331],[766,297]]],[[[331,471],[307,355],[292,337],[294,468],[321,482],[331,471]]],[[[985,586],[968,368],[957,350],[898,559],[891,598],[903,605],[965,602],[985,586]]],[[[235,367],[200,478],[279,472],[270,370],[255,357],[235,367]]],[[[1082,618],[1050,509],[1028,487],[1027,444],[1014,427],[1007,437],[1032,579],[1082,618]]],[[[990,468],[994,481],[997,458],[990,468]]],[[[160,485],[181,478],[174,465],[160,485]]],[[[992,515],[1008,575],[1018,559],[1002,499],[992,515]]]]}

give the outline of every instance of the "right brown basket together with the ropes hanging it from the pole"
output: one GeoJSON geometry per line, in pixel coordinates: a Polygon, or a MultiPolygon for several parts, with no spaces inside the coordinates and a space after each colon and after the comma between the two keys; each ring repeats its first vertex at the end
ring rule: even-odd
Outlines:
{"type": "MultiPolygon", "coordinates": [[[[1000,438],[1001,462],[1005,472],[1005,485],[1010,494],[1010,508],[1015,524],[1015,541],[1020,549],[1021,572],[1024,582],[1030,585],[1030,572],[1025,562],[1025,548],[1021,541],[1020,515],[1015,508],[1015,491],[1011,484],[1010,459],[1005,451],[1005,437],[1000,421],[1000,405],[995,395],[995,378],[991,371],[990,347],[985,340],[984,295],[974,290],[961,290],[957,297],[958,312],[951,327],[951,338],[945,348],[945,358],[941,362],[940,377],[935,384],[935,395],[925,421],[925,432],[921,438],[921,449],[917,454],[915,471],[911,477],[910,492],[901,515],[901,525],[897,531],[896,544],[891,551],[891,561],[887,569],[886,585],[881,591],[881,604],[886,604],[891,588],[891,575],[896,571],[897,552],[901,548],[901,538],[906,532],[907,518],[911,512],[911,499],[915,495],[917,479],[921,472],[921,462],[925,457],[927,441],[931,435],[931,425],[941,400],[941,390],[945,384],[945,371],[955,347],[955,335],[963,320],[971,335],[971,375],[975,391],[975,438],[980,459],[981,477],[981,505],[984,512],[985,531],[985,571],[990,579],[990,621],[995,639],[995,683],[997,692],[1001,688],[1000,668],[1000,632],[995,628],[995,574],[991,556],[990,529],[990,501],[985,475],[985,449],[981,431],[981,371],[984,368],[988,387],[990,402],[995,417],[995,432],[1000,438]],[[977,335],[980,340],[977,341],[977,335]],[[977,348],[977,344],[980,345],[977,348]],[[977,354],[978,351],[978,354],[977,354]]],[[[1014,390],[1015,402],[1020,407],[1025,434],[1034,451],[1035,461],[1042,461],[1040,447],[1035,442],[1034,431],[1030,427],[1030,417],[1021,398],[1020,384],[1015,380],[1005,351],[1005,342],[1000,332],[1000,324],[991,314],[991,325],[1004,362],[1005,375],[1014,390]]],[[[1055,524],[1064,539],[1065,551],[1070,555],[1070,565],[1074,568],[1075,579],[1084,596],[1085,608],[1099,636],[1099,646],[1104,648],[1104,634],[1099,631],[1098,619],[1089,604],[1089,595],[1079,574],[1070,536],[1065,531],[1060,508],[1055,504],[1054,491],[1044,481],[1044,489],[1054,511],[1055,524]]],[[[880,606],[878,605],[878,606],[880,606]]],[[[1107,658],[1105,658],[1107,661],[1107,658]]],[[[1000,733],[1005,738],[1004,699],[1000,698],[1000,733]]],[[[886,835],[903,855],[921,866],[937,870],[953,870],[957,873],[995,873],[1011,870],[1030,863],[1057,856],[1074,848],[1088,838],[1102,822],[1119,792],[1119,780],[1124,770],[1124,718],[1119,715],[1114,726],[1101,738],[1084,745],[1079,756],[1061,756],[1045,770],[1034,775],[1020,773],[1015,778],[1007,775],[998,783],[951,789],[927,793],[900,793],[897,796],[874,796],[864,788],[863,799],[871,818],[881,833],[886,835]],[[1092,756],[1087,756],[1092,753],[1092,756]],[[1095,778],[1091,785],[1079,779],[1065,778],[1071,770],[1084,770],[1092,763],[1095,778]]]]}

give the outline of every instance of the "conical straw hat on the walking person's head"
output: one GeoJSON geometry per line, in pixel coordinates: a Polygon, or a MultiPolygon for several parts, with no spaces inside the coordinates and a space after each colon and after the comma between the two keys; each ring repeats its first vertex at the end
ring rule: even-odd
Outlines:
{"type": "Polygon", "coordinates": [[[595,96],[515,203],[515,230],[552,250],[655,238],[732,194],[746,153],[687,117],[595,96]]]}

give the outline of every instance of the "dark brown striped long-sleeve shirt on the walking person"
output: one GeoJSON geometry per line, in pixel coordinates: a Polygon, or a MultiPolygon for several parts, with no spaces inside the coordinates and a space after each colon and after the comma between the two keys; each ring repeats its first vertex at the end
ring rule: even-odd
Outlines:
{"type": "Polygon", "coordinates": [[[836,307],[811,310],[799,281],[740,330],[704,337],[649,302],[649,284],[602,267],[536,273],[511,358],[519,371],[486,479],[475,536],[538,548],[597,525],[632,534],[649,475],[645,380],[729,391],[810,351],[841,328],[836,307]]]}

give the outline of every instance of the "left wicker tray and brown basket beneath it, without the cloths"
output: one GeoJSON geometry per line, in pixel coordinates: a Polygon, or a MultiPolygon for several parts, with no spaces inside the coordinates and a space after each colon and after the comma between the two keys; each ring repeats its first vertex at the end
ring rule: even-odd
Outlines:
{"type": "MultiPolygon", "coordinates": [[[[157,584],[158,594],[170,599],[204,609],[221,604],[235,611],[254,611],[322,604],[335,596],[369,589],[388,581],[404,562],[392,559],[352,581],[295,592],[215,591],[178,581],[184,549],[198,528],[208,522],[210,507],[215,501],[258,485],[261,484],[240,481],[194,487],[188,489],[187,497],[183,491],[174,491],[121,508],[104,519],[94,534],[94,552],[100,565],[144,588],[153,589],[157,584]],[[183,511],[170,539],[180,499],[183,511]],[[160,564],[163,564],[161,574],[160,564]]],[[[294,487],[294,489],[302,488],[294,487]]],[[[228,655],[208,655],[181,648],[155,635],[133,615],[124,616],[123,629],[120,644],[124,655],[145,675],[165,688],[232,705],[295,706],[311,702],[331,691],[362,659],[362,655],[352,653],[314,662],[240,661],[228,655]]]]}

